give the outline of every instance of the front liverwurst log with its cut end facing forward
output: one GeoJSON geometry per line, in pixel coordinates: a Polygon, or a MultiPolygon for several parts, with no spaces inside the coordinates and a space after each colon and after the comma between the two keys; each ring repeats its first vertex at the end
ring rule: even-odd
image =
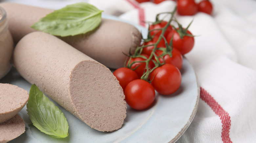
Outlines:
{"type": "Polygon", "coordinates": [[[122,126],[126,102],[117,78],[64,41],[32,32],[17,43],[13,61],[22,77],[92,128],[122,126]]]}

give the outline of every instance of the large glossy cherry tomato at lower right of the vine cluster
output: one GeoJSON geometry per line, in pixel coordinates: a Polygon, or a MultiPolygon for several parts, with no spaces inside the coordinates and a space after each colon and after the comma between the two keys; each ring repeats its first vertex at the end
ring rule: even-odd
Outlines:
{"type": "Polygon", "coordinates": [[[181,86],[181,72],[171,64],[164,64],[152,71],[152,86],[162,95],[174,93],[181,86]]]}

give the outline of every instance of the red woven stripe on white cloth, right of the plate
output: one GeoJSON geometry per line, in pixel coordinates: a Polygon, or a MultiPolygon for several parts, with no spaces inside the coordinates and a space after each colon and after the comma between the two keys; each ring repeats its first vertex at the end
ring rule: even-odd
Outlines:
{"type": "Polygon", "coordinates": [[[200,87],[200,98],[212,108],[215,114],[217,114],[220,117],[221,123],[222,123],[222,132],[221,132],[222,141],[224,143],[232,143],[229,137],[229,130],[231,125],[229,114],[202,87],[200,87]]]}

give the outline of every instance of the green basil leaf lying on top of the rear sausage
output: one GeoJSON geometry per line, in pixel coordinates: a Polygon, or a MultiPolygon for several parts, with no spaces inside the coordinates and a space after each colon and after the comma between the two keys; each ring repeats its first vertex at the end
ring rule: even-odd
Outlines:
{"type": "Polygon", "coordinates": [[[88,3],[76,3],[53,11],[31,27],[62,37],[84,34],[100,24],[101,12],[88,3]]]}

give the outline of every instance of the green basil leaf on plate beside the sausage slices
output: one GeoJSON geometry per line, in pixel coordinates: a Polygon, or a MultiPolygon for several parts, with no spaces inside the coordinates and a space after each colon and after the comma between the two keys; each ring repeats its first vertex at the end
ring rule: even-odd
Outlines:
{"type": "Polygon", "coordinates": [[[27,111],[33,125],[41,132],[55,138],[68,136],[68,122],[60,109],[32,85],[27,103],[27,111]]]}

